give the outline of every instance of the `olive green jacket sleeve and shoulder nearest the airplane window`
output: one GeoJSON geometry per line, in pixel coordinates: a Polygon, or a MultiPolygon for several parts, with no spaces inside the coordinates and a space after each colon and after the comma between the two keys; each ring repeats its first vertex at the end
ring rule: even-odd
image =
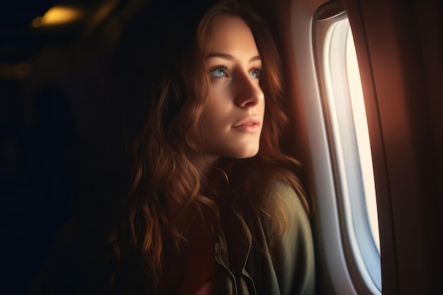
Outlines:
{"type": "Polygon", "coordinates": [[[287,229],[281,238],[270,238],[280,294],[315,294],[315,262],[309,218],[289,185],[277,182],[272,197],[283,202],[287,229]]]}

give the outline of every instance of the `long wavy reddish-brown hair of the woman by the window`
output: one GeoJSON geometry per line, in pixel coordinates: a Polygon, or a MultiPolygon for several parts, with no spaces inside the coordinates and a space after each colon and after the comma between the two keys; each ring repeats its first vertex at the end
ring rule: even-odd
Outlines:
{"type": "MultiPolygon", "coordinates": [[[[169,202],[196,212],[196,221],[205,221],[214,231],[219,218],[217,192],[230,190],[234,210],[258,214],[272,221],[276,233],[285,229],[284,202],[267,206],[263,185],[280,180],[294,187],[309,213],[310,206],[294,169],[299,163],[282,153],[281,132],[289,122],[284,113],[282,65],[275,42],[263,20],[237,0],[217,1],[200,18],[189,45],[180,48],[151,88],[149,115],[132,144],[131,189],[121,204],[120,225],[111,236],[117,263],[134,255],[154,284],[159,281],[165,236],[176,246],[183,232],[174,222],[180,214],[168,214],[169,202]],[[190,161],[190,154],[204,154],[200,120],[209,96],[210,79],[205,67],[212,26],[223,16],[241,18],[251,29],[263,61],[260,86],[265,94],[265,119],[260,151],[248,159],[223,159],[214,166],[222,181],[209,181],[190,161]],[[235,171],[235,172],[234,172],[235,171]],[[236,175],[241,173],[241,181],[236,175]],[[217,186],[214,187],[214,183],[217,186]]],[[[216,173],[217,174],[217,173],[216,173]]],[[[267,187],[272,189],[272,187],[267,187]]],[[[182,210],[182,211],[183,211],[182,210]]],[[[118,273],[118,272],[117,272],[118,273]]]]}

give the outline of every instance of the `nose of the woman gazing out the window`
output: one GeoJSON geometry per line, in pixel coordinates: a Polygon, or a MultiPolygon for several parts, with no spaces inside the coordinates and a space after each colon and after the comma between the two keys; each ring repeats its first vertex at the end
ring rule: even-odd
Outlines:
{"type": "Polygon", "coordinates": [[[265,99],[257,78],[252,78],[248,72],[236,75],[235,104],[239,108],[252,107],[265,99]]]}

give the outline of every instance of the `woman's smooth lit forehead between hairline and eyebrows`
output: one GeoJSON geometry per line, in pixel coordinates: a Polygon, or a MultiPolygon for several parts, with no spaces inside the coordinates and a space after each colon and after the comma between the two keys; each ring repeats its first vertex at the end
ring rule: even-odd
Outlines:
{"type": "Polygon", "coordinates": [[[248,52],[258,55],[251,29],[238,16],[222,16],[209,30],[209,52],[248,52]]]}

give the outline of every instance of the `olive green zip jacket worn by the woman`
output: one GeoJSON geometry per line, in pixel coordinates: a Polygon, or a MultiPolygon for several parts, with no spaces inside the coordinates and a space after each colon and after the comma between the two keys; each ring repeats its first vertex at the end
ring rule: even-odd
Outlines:
{"type": "Polygon", "coordinates": [[[287,230],[283,236],[270,236],[270,225],[258,216],[252,226],[241,216],[232,218],[232,224],[216,237],[217,294],[315,293],[314,250],[306,212],[289,185],[277,183],[272,194],[272,198],[280,194],[290,208],[285,212],[287,230]]]}

